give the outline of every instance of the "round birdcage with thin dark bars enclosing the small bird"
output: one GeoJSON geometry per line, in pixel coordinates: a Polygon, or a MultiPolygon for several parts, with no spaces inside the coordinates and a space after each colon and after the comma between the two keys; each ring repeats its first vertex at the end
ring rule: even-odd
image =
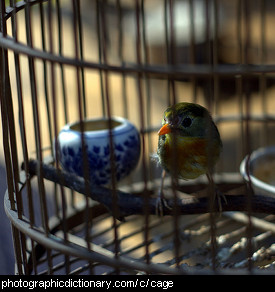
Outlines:
{"type": "Polygon", "coordinates": [[[15,273],[274,273],[274,13],[264,0],[1,1],[15,273]],[[204,176],[162,182],[153,158],[163,112],[183,101],[220,131],[220,209],[204,176]],[[95,127],[103,146],[88,146],[95,127]]]}

